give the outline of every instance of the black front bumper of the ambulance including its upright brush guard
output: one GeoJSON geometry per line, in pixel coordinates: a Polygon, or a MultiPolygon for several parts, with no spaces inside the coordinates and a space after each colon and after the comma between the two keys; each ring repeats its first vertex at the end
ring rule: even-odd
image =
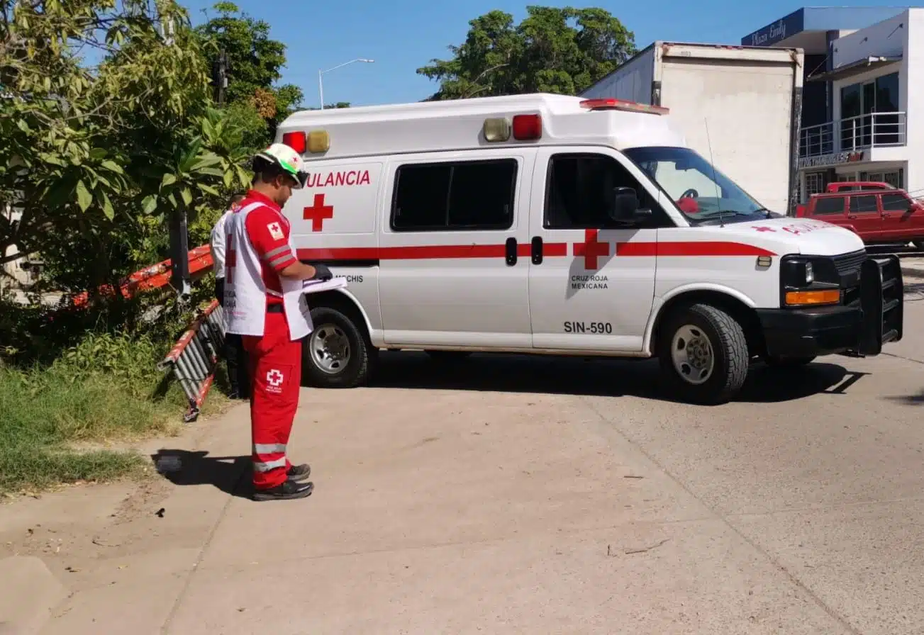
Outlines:
{"type": "Polygon", "coordinates": [[[858,297],[850,305],[758,309],[766,353],[877,355],[883,344],[902,339],[904,294],[897,257],[867,258],[860,268],[858,297]]]}

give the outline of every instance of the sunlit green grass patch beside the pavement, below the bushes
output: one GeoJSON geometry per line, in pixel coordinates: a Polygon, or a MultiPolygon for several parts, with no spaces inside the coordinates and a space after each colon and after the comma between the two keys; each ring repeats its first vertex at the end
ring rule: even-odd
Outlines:
{"type": "Polygon", "coordinates": [[[50,367],[0,368],[0,492],[140,470],[137,454],[74,445],[176,431],[184,400],[176,386],[158,394],[161,348],[143,337],[91,335],[50,367]]]}

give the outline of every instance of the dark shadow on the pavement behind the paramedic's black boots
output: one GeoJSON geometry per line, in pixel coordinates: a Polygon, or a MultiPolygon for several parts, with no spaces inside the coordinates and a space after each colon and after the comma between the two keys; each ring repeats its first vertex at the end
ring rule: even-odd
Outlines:
{"type": "Polygon", "coordinates": [[[231,496],[249,498],[249,456],[213,457],[205,450],[160,449],[151,460],[174,485],[213,485],[231,496]]]}

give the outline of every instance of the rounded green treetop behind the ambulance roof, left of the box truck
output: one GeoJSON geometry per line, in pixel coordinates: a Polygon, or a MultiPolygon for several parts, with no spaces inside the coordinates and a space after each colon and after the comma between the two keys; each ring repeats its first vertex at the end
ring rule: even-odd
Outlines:
{"type": "Polygon", "coordinates": [[[440,82],[430,100],[529,92],[574,95],[636,53],[635,35],[602,8],[528,6],[519,24],[494,10],[471,20],[451,59],[418,74],[440,82]]]}

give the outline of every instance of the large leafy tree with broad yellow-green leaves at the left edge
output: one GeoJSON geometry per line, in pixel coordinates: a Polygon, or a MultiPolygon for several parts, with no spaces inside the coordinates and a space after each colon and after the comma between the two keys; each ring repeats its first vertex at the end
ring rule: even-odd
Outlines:
{"type": "MultiPolygon", "coordinates": [[[[242,186],[240,126],[174,0],[0,0],[0,257],[38,252],[61,290],[166,257],[164,221],[196,222],[242,186]]],[[[9,257],[5,257],[9,258],[9,257]]]]}

